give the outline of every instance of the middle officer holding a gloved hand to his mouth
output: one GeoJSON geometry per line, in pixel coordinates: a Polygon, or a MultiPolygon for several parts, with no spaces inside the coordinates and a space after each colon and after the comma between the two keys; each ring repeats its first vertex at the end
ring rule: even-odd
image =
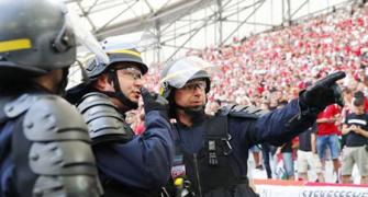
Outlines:
{"type": "Polygon", "coordinates": [[[89,126],[105,196],[160,196],[169,176],[174,141],[168,102],[143,88],[147,66],[135,48],[109,50],[109,65],[92,59],[89,82],[68,91],[89,126]],[[134,136],[124,120],[142,95],[146,130],[134,136]]]}

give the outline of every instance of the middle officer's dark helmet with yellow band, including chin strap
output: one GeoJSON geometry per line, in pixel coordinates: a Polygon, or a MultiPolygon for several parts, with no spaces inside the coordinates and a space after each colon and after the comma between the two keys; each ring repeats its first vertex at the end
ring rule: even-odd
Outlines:
{"type": "Polygon", "coordinates": [[[133,109],[137,108],[138,104],[132,102],[121,90],[116,68],[119,62],[131,62],[134,66],[137,66],[142,72],[145,74],[148,71],[148,67],[143,62],[141,53],[135,48],[127,48],[127,49],[120,49],[120,50],[112,50],[107,51],[110,62],[103,63],[99,61],[97,58],[92,58],[87,63],[87,76],[90,81],[94,81],[101,76],[102,73],[108,73],[109,78],[113,82],[115,92],[104,92],[109,96],[116,97],[123,105],[127,108],[133,109]]]}

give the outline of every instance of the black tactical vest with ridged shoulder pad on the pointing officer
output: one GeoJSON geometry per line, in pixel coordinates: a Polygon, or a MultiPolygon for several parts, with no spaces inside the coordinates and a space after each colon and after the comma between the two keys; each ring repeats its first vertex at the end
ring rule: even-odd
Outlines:
{"type": "Polygon", "coordinates": [[[215,193],[211,195],[219,197],[238,196],[239,190],[241,196],[258,196],[248,186],[248,178],[241,176],[238,172],[239,166],[232,155],[233,149],[230,143],[232,137],[228,134],[227,120],[228,116],[257,119],[266,113],[259,108],[239,105],[222,108],[216,116],[205,120],[204,147],[198,154],[185,151],[180,144],[177,126],[174,125],[176,160],[171,170],[172,178],[183,176],[190,182],[186,183],[188,196],[202,197],[210,190],[215,193]],[[190,194],[191,192],[193,194],[190,194]]]}

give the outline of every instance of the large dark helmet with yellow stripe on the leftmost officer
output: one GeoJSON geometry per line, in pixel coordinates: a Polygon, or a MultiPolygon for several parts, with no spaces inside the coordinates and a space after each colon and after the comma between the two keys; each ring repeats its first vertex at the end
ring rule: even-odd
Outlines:
{"type": "Polygon", "coordinates": [[[0,1],[0,79],[45,74],[76,60],[66,7],[56,0],[0,1]]]}

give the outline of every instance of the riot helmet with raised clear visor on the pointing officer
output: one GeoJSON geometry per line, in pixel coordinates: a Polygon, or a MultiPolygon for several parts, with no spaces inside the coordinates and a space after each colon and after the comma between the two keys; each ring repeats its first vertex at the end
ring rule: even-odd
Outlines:
{"type": "Polygon", "coordinates": [[[160,74],[160,95],[170,100],[172,89],[181,89],[193,79],[204,79],[208,93],[211,86],[210,74],[205,71],[208,67],[211,65],[198,57],[185,57],[167,63],[160,74]]]}

